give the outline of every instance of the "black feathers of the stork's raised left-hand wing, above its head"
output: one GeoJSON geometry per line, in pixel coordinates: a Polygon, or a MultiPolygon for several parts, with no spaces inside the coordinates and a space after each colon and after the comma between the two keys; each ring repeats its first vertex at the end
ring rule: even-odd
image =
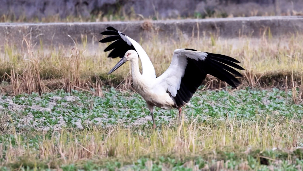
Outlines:
{"type": "MultiPolygon", "coordinates": [[[[120,58],[122,58],[125,55],[126,51],[131,50],[131,49],[135,50],[135,47],[133,45],[128,45],[127,42],[125,42],[121,38],[117,29],[115,29],[112,26],[109,26],[106,29],[107,30],[104,31],[104,32],[101,32],[101,34],[102,35],[109,35],[109,36],[100,40],[99,42],[107,43],[107,42],[115,41],[104,49],[104,52],[112,50],[109,53],[108,57],[111,57],[111,58],[120,57],[120,58]]],[[[125,34],[123,34],[122,32],[120,32],[120,33],[123,36],[125,36],[125,34]]]]}

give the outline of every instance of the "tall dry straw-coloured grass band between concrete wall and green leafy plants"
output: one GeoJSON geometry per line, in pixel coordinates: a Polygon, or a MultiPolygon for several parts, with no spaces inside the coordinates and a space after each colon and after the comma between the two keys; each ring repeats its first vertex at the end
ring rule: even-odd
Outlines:
{"type": "MultiPolygon", "coordinates": [[[[12,94],[41,93],[58,88],[68,92],[71,89],[90,91],[90,88],[98,89],[104,84],[131,88],[129,65],[106,75],[118,60],[106,58],[108,53],[102,50],[108,44],[87,45],[85,38],[83,36],[82,44],[75,43],[73,47],[45,49],[43,45],[35,46],[29,34],[23,39],[26,44],[24,49],[8,45],[0,47],[1,79],[10,83],[2,84],[0,90],[12,94]]],[[[140,43],[150,56],[157,75],[167,69],[174,49],[192,48],[225,54],[241,61],[241,66],[245,68],[242,72],[245,76],[243,86],[294,87],[297,97],[302,98],[302,88],[297,90],[302,85],[302,39],[302,35],[273,38],[270,32],[264,32],[260,38],[234,39],[218,36],[196,38],[192,35],[188,39],[172,40],[170,37],[158,39],[154,35],[140,43]]],[[[205,84],[209,88],[225,87],[213,77],[208,77],[205,84]]]]}

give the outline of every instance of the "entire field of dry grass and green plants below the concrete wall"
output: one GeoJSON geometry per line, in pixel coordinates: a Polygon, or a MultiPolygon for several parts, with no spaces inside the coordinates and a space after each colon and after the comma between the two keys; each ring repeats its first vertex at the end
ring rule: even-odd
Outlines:
{"type": "Polygon", "coordinates": [[[129,66],[106,75],[105,44],[0,47],[0,170],[302,169],[302,35],[161,39],[139,41],[158,76],[192,48],[241,61],[242,85],[208,77],[180,126],[156,108],[153,130],[129,66]]]}

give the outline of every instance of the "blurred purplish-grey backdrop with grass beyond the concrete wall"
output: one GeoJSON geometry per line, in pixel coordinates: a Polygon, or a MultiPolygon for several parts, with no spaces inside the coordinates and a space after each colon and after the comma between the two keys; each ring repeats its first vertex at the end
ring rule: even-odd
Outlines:
{"type": "Polygon", "coordinates": [[[0,0],[1,22],[303,15],[302,0],[0,0]]]}

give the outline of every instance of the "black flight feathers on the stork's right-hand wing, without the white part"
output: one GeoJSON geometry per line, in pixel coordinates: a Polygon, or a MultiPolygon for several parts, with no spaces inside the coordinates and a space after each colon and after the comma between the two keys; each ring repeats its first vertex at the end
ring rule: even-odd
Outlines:
{"type": "MultiPolygon", "coordinates": [[[[193,50],[193,49],[185,49],[193,50]]],[[[196,51],[196,50],[193,50],[196,51]]],[[[181,78],[180,88],[177,91],[176,97],[172,97],[175,101],[175,108],[181,108],[191,99],[198,87],[202,84],[207,74],[210,74],[218,79],[225,81],[230,86],[236,88],[240,82],[232,74],[243,77],[238,71],[231,67],[244,70],[235,63],[240,63],[238,60],[229,56],[207,53],[205,60],[187,59],[185,73],[181,78]],[[231,66],[231,67],[230,67],[231,66]]]]}

